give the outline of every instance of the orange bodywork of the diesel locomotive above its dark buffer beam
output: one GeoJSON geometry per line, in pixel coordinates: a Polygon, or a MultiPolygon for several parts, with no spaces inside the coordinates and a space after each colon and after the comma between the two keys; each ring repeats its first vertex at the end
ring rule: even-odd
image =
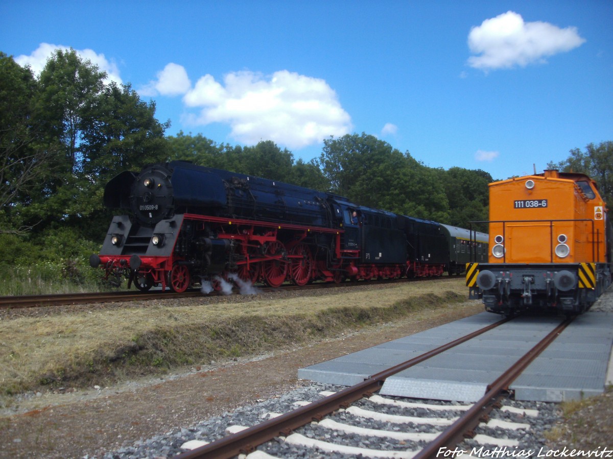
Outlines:
{"type": "Polygon", "coordinates": [[[489,192],[490,248],[497,237],[504,247],[489,263],[606,261],[604,201],[584,174],[546,171],[493,182],[489,192]],[[557,255],[560,244],[568,255],[557,255]]]}

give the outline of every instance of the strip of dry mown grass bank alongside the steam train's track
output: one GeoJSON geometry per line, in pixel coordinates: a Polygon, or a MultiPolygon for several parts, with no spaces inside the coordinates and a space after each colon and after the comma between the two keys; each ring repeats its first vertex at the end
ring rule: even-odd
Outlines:
{"type": "Polygon", "coordinates": [[[0,394],[80,387],[318,340],[466,299],[458,280],[351,293],[148,307],[0,322],[0,394]],[[426,285],[423,285],[426,284],[426,285]]]}

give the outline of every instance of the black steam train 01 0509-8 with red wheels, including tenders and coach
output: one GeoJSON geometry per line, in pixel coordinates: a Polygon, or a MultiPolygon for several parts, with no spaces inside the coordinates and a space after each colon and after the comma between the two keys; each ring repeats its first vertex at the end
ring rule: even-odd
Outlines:
{"type": "Polygon", "coordinates": [[[89,263],[142,291],[439,276],[489,252],[487,234],[181,161],[118,174],[104,204],[128,212],[113,217],[89,263]]]}

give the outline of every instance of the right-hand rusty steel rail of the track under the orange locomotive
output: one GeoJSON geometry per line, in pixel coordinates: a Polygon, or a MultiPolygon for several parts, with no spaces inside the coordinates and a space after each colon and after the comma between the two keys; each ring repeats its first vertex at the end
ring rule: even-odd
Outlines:
{"type": "Polygon", "coordinates": [[[479,425],[482,420],[487,420],[490,411],[497,403],[508,395],[509,386],[525,370],[531,362],[541,354],[544,349],[549,346],[555,338],[573,321],[572,318],[566,319],[552,330],[543,340],[539,341],[530,351],[520,357],[511,368],[504,371],[496,381],[487,387],[485,395],[477,401],[470,409],[468,409],[454,424],[446,428],[446,430],[438,436],[435,441],[428,444],[422,449],[413,459],[432,459],[437,457],[441,449],[455,448],[465,436],[471,438],[473,429],[479,425]]]}

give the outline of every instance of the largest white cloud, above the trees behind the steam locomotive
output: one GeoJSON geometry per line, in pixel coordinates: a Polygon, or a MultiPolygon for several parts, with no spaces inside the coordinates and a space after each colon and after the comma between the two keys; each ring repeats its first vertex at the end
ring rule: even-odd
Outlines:
{"type": "Polygon", "coordinates": [[[223,84],[211,75],[185,94],[187,106],[200,108],[194,124],[227,123],[246,144],[272,140],[289,148],[316,144],[351,130],[351,118],[326,81],[280,70],[265,78],[233,72],[223,84]]]}

